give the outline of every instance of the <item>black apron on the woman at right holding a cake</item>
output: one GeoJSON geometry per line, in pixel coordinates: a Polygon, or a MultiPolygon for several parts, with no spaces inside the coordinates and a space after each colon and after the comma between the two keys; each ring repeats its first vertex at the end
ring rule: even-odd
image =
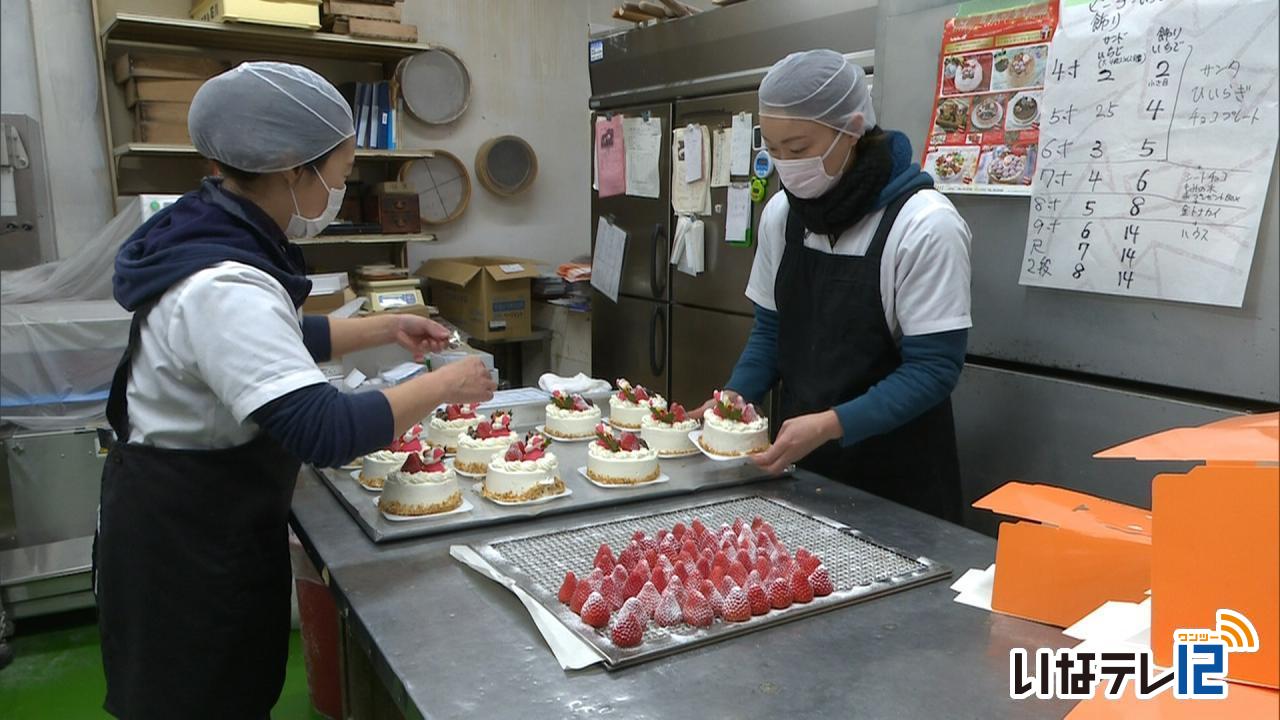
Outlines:
{"type": "MultiPolygon", "coordinates": [[[[902,205],[896,197],[863,256],[805,247],[804,223],[787,214],[786,250],[774,281],[782,416],[847,402],[902,364],[884,320],[879,269],[902,205]]],[[[890,260],[892,261],[892,260],[890,260]]],[[[905,425],[841,447],[818,447],[800,466],[946,520],[960,520],[960,468],[951,398],[905,425]]]]}

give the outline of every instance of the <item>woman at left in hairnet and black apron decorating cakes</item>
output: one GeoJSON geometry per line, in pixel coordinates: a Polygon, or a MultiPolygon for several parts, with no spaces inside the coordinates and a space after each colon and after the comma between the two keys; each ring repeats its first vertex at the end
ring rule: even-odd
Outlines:
{"type": "Polygon", "coordinates": [[[143,224],[115,260],[132,310],[108,418],[95,591],[105,707],[122,717],[266,717],[289,635],[287,519],[301,461],[339,465],[440,402],[492,397],[479,360],[342,395],[316,368],[398,342],[447,345],[408,315],[302,318],[311,283],[291,240],[338,214],[351,109],[316,73],[244,63],[188,117],[220,169],[143,224]]]}

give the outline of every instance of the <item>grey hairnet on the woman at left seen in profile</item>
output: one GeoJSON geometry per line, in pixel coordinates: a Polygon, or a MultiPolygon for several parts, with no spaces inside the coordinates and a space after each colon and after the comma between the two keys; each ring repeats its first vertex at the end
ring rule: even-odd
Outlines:
{"type": "Polygon", "coordinates": [[[201,155],[250,173],[305,165],[356,135],[338,88],[289,63],[242,63],[210,78],[187,127],[201,155]]]}

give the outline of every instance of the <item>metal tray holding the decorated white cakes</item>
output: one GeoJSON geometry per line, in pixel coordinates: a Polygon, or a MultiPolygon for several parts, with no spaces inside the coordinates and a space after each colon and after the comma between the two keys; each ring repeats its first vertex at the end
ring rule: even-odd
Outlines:
{"type": "MultiPolygon", "coordinates": [[[[355,478],[351,477],[349,470],[314,469],[314,471],[324,480],[324,484],[329,487],[333,495],[337,496],[342,506],[347,509],[347,512],[356,519],[356,523],[365,530],[369,539],[374,542],[392,542],[439,533],[452,533],[561,512],[576,512],[591,507],[609,507],[640,500],[687,495],[708,488],[740,486],[777,477],[765,474],[746,459],[716,461],[699,454],[690,457],[659,460],[663,474],[671,478],[668,482],[634,488],[602,488],[589,483],[577,473],[579,468],[586,465],[588,445],[585,442],[557,442],[553,446],[553,451],[559,459],[561,479],[564,480],[567,488],[573,491],[568,497],[552,500],[540,505],[502,506],[472,492],[472,484],[479,480],[458,477],[462,497],[472,505],[472,510],[470,512],[421,520],[390,521],[383,518],[374,503],[378,493],[360,487],[355,478]]],[[[783,473],[783,475],[786,474],[788,473],[783,473]]]]}

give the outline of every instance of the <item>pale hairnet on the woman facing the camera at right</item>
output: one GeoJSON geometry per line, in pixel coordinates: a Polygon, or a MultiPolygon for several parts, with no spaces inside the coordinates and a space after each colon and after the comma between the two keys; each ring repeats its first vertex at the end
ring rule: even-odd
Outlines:
{"type": "Polygon", "coordinates": [[[861,137],[876,127],[867,74],[835,50],[792,53],[760,82],[760,115],[822,123],[861,137]]]}

